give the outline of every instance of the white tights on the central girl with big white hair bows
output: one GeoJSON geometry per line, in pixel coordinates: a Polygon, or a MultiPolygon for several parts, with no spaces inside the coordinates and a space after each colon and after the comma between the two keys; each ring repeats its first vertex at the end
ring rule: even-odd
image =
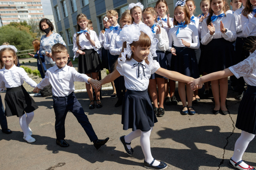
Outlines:
{"type": "MultiPolygon", "coordinates": [[[[151,150],[150,150],[150,133],[152,131],[152,127],[148,132],[142,132],[141,130],[135,130],[129,133],[128,135],[124,136],[124,140],[126,143],[130,143],[133,139],[137,137],[141,137],[140,143],[141,143],[141,148],[143,151],[143,154],[145,156],[145,161],[147,163],[151,163],[153,161],[153,157],[151,155],[151,150]]],[[[131,145],[126,145],[128,149],[131,149],[131,145]]],[[[158,166],[160,164],[159,161],[154,161],[153,166],[158,166]]]]}

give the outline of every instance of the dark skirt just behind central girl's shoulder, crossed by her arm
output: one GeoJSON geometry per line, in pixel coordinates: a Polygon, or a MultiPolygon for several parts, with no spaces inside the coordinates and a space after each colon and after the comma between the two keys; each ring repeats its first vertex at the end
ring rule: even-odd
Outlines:
{"type": "MultiPolygon", "coordinates": [[[[168,64],[165,52],[164,51],[156,51],[156,55],[157,56],[154,57],[153,59],[156,60],[157,62],[159,62],[159,65],[160,65],[161,68],[168,69],[169,64],[168,64]]],[[[155,79],[155,78],[165,78],[165,79],[167,79],[166,77],[163,77],[161,75],[158,75],[158,74],[154,73],[154,74],[151,75],[150,79],[155,79]]]]}

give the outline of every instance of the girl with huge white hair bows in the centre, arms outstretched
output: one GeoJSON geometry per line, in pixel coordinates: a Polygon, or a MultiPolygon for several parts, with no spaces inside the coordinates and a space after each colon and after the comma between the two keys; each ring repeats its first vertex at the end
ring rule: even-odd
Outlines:
{"type": "Polygon", "coordinates": [[[124,76],[127,91],[122,103],[122,124],[123,130],[132,129],[132,132],[121,136],[120,141],[126,153],[132,155],[134,150],[131,148],[131,141],[141,137],[144,166],[156,170],[165,169],[166,163],[156,161],[150,151],[150,133],[157,119],[147,93],[149,79],[154,73],[181,82],[189,82],[193,78],[160,68],[159,63],[153,60],[158,40],[145,24],[124,26],[119,36],[123,45],[115,64],[116,69],[100,80],[100,83],[106,84],[124,76]]]}

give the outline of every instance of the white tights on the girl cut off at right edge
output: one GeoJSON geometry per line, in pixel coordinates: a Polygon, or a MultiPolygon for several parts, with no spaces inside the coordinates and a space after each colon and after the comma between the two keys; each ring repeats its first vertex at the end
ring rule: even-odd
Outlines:
{"type": "MultiPolygon", "coordinates": [[[[254,136],[255,135],[252,134],[252,133],[248,133],[248,132],[245,132],[245,131],[241,132],[241,136],[236,141],[234,154],[231,158],[233,161],[235,161],[237,163],[237,162],[242,160],[243,153],[245,153],[245,150],[246,150],[248,144],[250,143],[250,141],[252,141],[254,136]]],[[[244,162],[242,162],[240,164],[240,166],[242,166],[243,168],[248,168],[249,167],[244,162]]]]}

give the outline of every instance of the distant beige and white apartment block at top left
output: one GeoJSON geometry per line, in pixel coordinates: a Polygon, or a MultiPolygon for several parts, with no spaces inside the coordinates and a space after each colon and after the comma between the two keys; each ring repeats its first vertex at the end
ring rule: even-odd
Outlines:
{"type": "Polygon", "coordinates": [[[0,26],[44,18],[41,0],[0,0],[0,26]]]}

